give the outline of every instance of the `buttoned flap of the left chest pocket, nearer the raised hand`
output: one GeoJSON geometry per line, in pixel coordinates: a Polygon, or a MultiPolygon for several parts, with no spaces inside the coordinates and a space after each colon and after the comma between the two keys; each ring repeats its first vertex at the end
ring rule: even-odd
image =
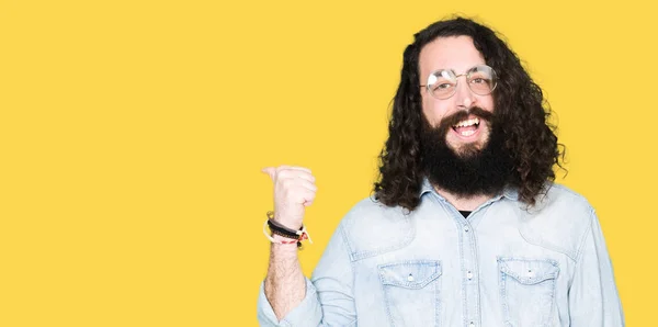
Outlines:
{"type": "Polygon", "coordinates": [[[422,289],[441,275],[441,262],[413,260],[381,264],[379,278],[385,285],[422,289]]]}

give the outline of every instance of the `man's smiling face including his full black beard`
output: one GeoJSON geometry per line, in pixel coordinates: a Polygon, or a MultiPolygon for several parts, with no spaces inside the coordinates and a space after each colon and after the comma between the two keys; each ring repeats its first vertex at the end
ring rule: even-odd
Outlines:
{"type": "MultiPolygon", "coordinates": [[[[484,64],[470,37],[441,37],[420,52],[421,84],[434,70],[462,75],[484,64]]],[[[509,182],[514,164],[504,147],[503,122],[494,115],[494,97],[474,93],[466,82],[465,76],[458,77],[455,92],[447,99],[436,89],[443,100],[421,90],[426,117],[420,131],[422,168],[430,182],[457,196],[495,194],[509,182]]],[[[434,84],[446,86],[445,80],[434,84]]],[[[472,86],[483,91],[483,84],[472,86]]]]}

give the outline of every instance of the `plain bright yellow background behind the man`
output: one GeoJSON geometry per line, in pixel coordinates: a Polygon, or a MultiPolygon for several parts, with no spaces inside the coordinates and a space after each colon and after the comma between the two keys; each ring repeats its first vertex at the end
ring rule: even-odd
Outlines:
{"type": "Polygon", "coordinates": [[[447,2],[1,1],[0,326],[257,326],[260,169],[317,177],[309,274],[370,193],[405,46],[454,12],[544,88],[560,181],[598,210],[628,326],[651,323],[656,10],[447,2]]]}

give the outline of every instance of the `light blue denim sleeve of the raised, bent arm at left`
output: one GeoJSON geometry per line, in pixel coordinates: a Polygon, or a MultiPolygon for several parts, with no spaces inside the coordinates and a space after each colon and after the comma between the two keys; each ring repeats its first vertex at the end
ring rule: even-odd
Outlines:
{"type": "Polygon", "coordinates": [[[258,322],[261,326],[356,326],[353,297],[353,269],[342,225],[336,229],[310,280],[306,296],[279,320],[261,283],[258,322]]]}

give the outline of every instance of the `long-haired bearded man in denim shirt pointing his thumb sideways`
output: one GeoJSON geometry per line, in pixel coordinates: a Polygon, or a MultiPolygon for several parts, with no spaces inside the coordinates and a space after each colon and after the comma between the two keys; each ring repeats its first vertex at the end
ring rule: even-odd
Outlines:
{"type": "Polygon", "coordinates": [[[543,103],[488,27],[457,18],[417,33],[375,196],[341,221],[310,280],[285,230],[303,226],[314,177],[264,169],[286,229],[272,227],[261,325],[623,326],[595,213],[553,183],[563,153],[543,103]]]}

